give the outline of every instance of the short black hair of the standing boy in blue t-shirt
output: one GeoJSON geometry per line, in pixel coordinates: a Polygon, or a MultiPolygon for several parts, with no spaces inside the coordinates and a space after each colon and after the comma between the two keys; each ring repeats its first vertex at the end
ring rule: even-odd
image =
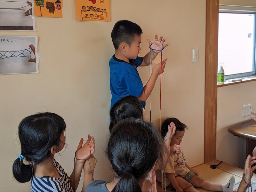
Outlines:
{"type": "Polygon", "coordinates": [[[131,46],[134,37],[142,34],[142,29],[136,23],[128,20],[117,21],[114,25],[111,38],[115,49],[118,49],[120,43],[125,42],[131,46]]]}

